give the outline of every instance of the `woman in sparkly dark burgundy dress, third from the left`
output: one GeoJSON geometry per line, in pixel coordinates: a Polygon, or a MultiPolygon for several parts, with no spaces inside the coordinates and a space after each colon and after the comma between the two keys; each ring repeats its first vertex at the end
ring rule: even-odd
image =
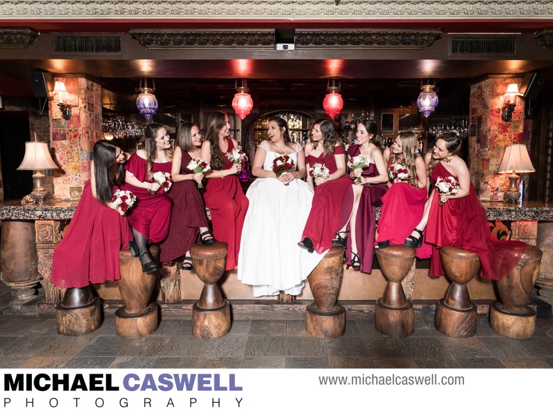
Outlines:
{"type": "Polygon", "coordinates": [[[192,269],[189,249],[198,239],[198,233],[202,244],[214,242],[207,228],[203,198],[198,191],[198,183],[202,182],[203,174],[194,174],[187,169],[191,160],[200,157],[201,146],[202,135],[198,125],[180,124],[171,166],[173,178],[173,187],[169,191],[169,197],[173,200],[171,223],[167,238],[160,244],[160,260],[170,262],[185,256],[182,262],[182,269],[185,270],[192,269]]]}

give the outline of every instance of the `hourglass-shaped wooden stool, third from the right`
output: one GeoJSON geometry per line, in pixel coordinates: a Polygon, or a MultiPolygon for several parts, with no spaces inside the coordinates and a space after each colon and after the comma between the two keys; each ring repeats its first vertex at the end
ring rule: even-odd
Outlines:
{"type": "Polygon", "coordinates": [[[415,262],[416,254],[415,249],[404,245],[376,250],[378,264],[388,283],[376,303],[375,328],[387,336],[406,337],[415,331],[413,304],[405,297],[401,282],[415,262]]]}

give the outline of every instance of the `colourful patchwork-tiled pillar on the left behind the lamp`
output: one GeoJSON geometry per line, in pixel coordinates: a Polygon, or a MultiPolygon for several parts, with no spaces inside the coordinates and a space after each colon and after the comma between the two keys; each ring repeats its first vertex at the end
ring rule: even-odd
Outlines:
{"type": "Polygon", "coordinates": [[[65,83],[68,93],[50,101],[50,142],[61,170],[54,172],[54,197],[78,200],[90,178],[94,143],[102,137],[102,99],[100,84],[79,76],[54,77],[65,83]],[[71,105],[71,118],[65,120],[59,99],[71,105]]]}

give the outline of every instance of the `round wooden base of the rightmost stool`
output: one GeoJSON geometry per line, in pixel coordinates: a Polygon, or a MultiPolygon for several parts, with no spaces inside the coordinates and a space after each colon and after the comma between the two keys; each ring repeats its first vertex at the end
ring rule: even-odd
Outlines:
{"type": "Polygon", "coordinates": [[[509,338],[526,340],[536,332],[536,312],[527,307],[527,312],[507,312],[499,301],[489,306],[489,325],[496,333],[509,338]]]}

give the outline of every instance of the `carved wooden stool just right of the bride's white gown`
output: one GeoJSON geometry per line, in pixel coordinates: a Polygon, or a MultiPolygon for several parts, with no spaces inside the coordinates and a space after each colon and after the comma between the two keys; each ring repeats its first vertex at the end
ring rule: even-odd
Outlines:
{"type": "Polygon", "coordinates": [[[346,330],[346,309],[336,303],[344,274],[344,249],[332,247],[308,276],[315,303],[307,306],[306,329],[317,338],[339,337],[346,330]]]}

